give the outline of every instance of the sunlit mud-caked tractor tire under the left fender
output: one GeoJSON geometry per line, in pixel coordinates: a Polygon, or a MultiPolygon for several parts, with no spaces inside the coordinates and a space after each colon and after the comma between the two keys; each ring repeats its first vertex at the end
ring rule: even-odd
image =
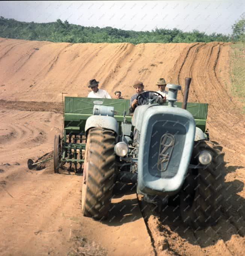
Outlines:
{"type": "Polygon", "coordinates": [[[114,184],[115,133],[96,127],[89,130],[83,169],[82,212],[84,216],[106,219],[114,184]]]}

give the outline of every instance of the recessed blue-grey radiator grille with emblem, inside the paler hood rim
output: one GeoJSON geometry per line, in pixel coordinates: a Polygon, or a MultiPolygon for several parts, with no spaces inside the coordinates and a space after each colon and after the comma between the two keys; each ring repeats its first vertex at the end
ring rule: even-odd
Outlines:
{"type": "Polygon", "coordinates": [[[148,158],[151,175],[168,179],[177,174],[185,137],[186,129],[180,123],[162,120],[153,124],[148,158]]]}

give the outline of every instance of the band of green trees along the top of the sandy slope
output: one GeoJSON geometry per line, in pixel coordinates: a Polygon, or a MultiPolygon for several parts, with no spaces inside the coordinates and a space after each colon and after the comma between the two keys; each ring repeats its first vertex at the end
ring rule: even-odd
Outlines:
{"type": "Polygon", "coordinates": [[[242,19],[233,25],[233,34],[212,33],[193,30],[183,32],[180,29],[154,29],[151,31],[122,30],[113,27],[85,27],[74,25],[58,19],[50,23],[22,22],[15,19],[0,17],[0,37],[27,39],[51,42],[71,43],[116,43],[129,42],[140,43],[177,43],[177,42],[213,42],[213,41],[242,41],[244,40],[244,15],[242,19]],[[238,25],[237,25],[238,24],[238,25]],[[243,30],[241,32],[241,27],[243,30]],[[234,33],[234,30],[236,33],[234,33]],[[243,36],[241,36],[243,33],[243,36]]]}

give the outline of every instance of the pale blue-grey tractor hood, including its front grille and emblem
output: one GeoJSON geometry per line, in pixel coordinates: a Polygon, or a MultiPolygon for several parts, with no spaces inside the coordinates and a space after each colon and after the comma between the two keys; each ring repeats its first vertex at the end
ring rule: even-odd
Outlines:
{"type": "Polygon", "coordinates": [[[139,130],[137,192],[174,194],[183,185],[191,160],[195,120],[181,108],[142,107],[136,108],[134,118],[139,130]]]}

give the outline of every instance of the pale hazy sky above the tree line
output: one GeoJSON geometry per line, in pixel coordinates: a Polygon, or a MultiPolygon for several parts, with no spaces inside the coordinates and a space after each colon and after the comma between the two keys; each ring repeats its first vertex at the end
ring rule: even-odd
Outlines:
{"type": "Polygon", "coordinates": [[[57,19],[92,27],[151,31],[193,29],[231,34],[245,12],[244,0],[183,1],[1,1],[0,15],[18,21],[47,23],[57,19]]]}

